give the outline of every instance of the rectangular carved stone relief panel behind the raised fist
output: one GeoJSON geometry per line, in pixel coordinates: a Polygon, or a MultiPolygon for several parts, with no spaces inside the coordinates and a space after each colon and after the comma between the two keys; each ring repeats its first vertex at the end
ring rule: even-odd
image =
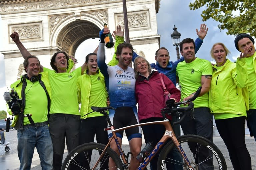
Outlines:
{"type": "MultiPolygon", "coordinates": [[[[21,42],[43,40],[42,22],[8,25],[9,34],[19,33],[21,42]]],[[[9,37],[9,43],[14,43],[9,37]]]]}

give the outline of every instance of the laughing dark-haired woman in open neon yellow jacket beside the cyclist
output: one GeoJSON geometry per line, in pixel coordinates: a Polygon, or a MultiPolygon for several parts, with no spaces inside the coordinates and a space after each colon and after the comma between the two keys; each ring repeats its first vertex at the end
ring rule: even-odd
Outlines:
{"type": "MultiPolygon", "coordinates": [[[[108,125],[105,116],[98,112],[90,113],[92,112],[91,106],[107,106],[107,91],[104,76],[98,69],[95,53],[88,54],[85,58],[85,63],[87,66],[86,73],[77,79],[78,101],[81,103],[79,145],[93,142],[95,134],[97,142],[107,144],[108,134],[107,131],[104,131],[104,128],[108,125]]],[[[90,158],[87,157],[84,160],[90,160],[90,158]]],[[[86,165],[88,162],[84,160],[80,162],[80,166],[89,166],[86,165]],[[82,163],[84,165],[81,165],[82,163]]],[[[108,160],[105,160],[101,167],[108,169],[108,160]]],[[[90,169],[89,167],[87,168],[90,169]]]]}

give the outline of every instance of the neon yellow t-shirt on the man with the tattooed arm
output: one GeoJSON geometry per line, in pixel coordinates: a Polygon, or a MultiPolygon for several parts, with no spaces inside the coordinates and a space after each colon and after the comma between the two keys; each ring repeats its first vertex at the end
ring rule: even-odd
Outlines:
{"type": "MultiPolygon", "coordinates": [[[[201,86],[201,77],[212,75],[212,65],[209,61],[196,58],[190,63],[180,62],[176,68],[176,76],[181,84],[181,101],[201,86]]],[[[194,108],[209,107],[209,93],[197,97],[194,101],[194,108]]]]}

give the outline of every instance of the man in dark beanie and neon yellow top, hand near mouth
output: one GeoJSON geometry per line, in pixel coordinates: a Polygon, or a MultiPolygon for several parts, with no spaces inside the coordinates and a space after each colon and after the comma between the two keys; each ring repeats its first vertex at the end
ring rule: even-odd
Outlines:
{"type": "Polygon", "coordinates": [[[247,125],[251,136],[254,136],[256,141],[256,52],[254,39],[246,33],[238,34],[235,38],[235,46],[241,52],[236,63],[238,71],[239,68],[247,70],[248,82],[244,83],[247,84],[248,91],[243,91],[243,95],[247,96],[249,100],[249,103],[248,100],[245,101],[246,105],[249,105],[247,125]]]}

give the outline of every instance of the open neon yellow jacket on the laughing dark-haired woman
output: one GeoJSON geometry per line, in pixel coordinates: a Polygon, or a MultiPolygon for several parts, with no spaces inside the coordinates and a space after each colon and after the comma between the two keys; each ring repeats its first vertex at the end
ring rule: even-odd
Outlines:
{"type": "MultiPolygon", "coordinates": [[[[104,87],[105,85],[105,79],[104,76],[101,74],[100,70],[98,70],[99,77],[100,77],[100,82],[103,84],[104,87]]],[[[88,74],[84,74],[82,76],[79,76],[77,79],[77,93],[78,93],[78,102],[81,103],[81,108],[80,108],[80,114],[81,114],[81,119],[87,118],[87,115],[84,116],[85,114],[88,113],[88,107],[89,107],[89,100],[98,100],[98,98],[90,98],[91,94],[91,77],[88,74]],[[81,102],[82,101],[82,102],[81,102]]],[[[106,96],[107,95],[107,90],[105,90],[106,96]]],[[[101,97],[101,96],[99,96],[101,97]]],[[[107,98],[105,99],[105,103],[102,106],[98,107],[106,107],[107,106],[107,98]]],[[[90,114],[90,117],[95,117],[95,116],[102,116],[103,114],[94,112],[90,114]]]]}

